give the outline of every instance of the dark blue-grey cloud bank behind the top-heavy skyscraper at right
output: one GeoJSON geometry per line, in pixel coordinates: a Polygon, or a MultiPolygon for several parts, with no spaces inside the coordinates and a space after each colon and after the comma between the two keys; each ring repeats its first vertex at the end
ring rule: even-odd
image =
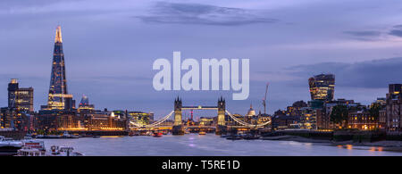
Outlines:
{"type": "Polygon", "coordinates": [[[336,84],[341,87],[381,88],[391,83],[402,83],[402,57],[367,62],[322,62],[289,67],[291,74],[306,83],[306,79],[320,73],[335,74],[336,84]]]}

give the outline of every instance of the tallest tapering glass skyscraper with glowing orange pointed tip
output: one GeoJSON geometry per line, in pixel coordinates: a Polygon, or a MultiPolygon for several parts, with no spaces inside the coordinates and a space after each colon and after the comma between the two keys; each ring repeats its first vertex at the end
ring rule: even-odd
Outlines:
{"type": "Polygon", "coordinates": [[[62,28],[56,29],[54,38],[54,54],[52,74],[50,78],[49,95],[47,101],[48,110],[71,109],[72,95],[67,92],[67,79],[65,78],[65,64],[63,54],[62,28]]]}

